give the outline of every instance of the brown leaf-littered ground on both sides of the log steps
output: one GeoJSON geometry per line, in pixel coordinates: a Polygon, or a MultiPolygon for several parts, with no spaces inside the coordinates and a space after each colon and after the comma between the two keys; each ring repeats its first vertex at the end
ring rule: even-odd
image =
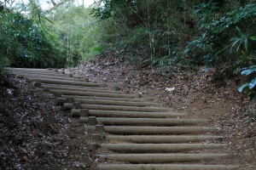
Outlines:
{"type": "MultiPolygon", "coordinates": [[[[237,92],[240,78],[214,76],[214,70],[183,71],[131,65],[113,57],[71,69],[90,81],[125,88],[151,97],[188,117],[207,118],[218,127],[230,157],[223,164],[256,166],[255,102],[237,92]]],[[[91,131],[72,119],[49,94],[18,77],[0,81],[0,169],[90,169],[97,163],[88,146],[91,131]]],[[[245,167],[246,169],[246,167],[245,167]]]]}

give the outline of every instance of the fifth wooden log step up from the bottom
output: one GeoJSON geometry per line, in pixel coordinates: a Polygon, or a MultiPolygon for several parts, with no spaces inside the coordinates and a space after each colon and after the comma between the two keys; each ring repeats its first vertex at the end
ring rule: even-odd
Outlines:
{"type": "Polygon", "coordinates": [[[196,134],[209,133],[214,127],[131,127],[104,126],[107,133],[112,134],[196,134]]]}

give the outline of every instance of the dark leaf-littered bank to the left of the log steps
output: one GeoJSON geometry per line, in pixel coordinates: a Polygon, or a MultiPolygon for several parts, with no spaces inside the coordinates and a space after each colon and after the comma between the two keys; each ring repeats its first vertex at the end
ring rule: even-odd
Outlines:
{"type": "Polygon", "coordinates": [[[88,169],[90,129],[55,105],[54,97],[26,79],[0,88],[0,169],[88,169]]]}

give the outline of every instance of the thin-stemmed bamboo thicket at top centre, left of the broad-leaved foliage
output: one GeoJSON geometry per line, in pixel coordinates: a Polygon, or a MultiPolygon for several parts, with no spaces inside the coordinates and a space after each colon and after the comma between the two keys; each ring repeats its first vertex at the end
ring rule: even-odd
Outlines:
{"type": "Polygon", "coordinates": [[[184,55],[185,43],[195,33],[195,20],[190,15],[193,5],[200,1],[104,2],[91,14],[105,23],[100,38],[105,51],[125,50],[122,56],[132,60],[166,65],[169,59],[177,61],[172,59],[176,53],[184,55]]]}

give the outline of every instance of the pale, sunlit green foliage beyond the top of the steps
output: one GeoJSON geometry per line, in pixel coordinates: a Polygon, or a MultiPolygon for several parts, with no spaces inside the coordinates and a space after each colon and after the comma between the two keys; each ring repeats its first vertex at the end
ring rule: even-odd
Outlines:
{"type": "Polygon", "coordinates": [[[55,8],[48,18],[54,23],[49,23],[49,31],[57,39],[55,47],[61,51],[67,66],[78,65],[102,53],[98,39],[104,27],[100,28],[101,23],[90,16],[89,8],[65,3],[55,8]]]}

